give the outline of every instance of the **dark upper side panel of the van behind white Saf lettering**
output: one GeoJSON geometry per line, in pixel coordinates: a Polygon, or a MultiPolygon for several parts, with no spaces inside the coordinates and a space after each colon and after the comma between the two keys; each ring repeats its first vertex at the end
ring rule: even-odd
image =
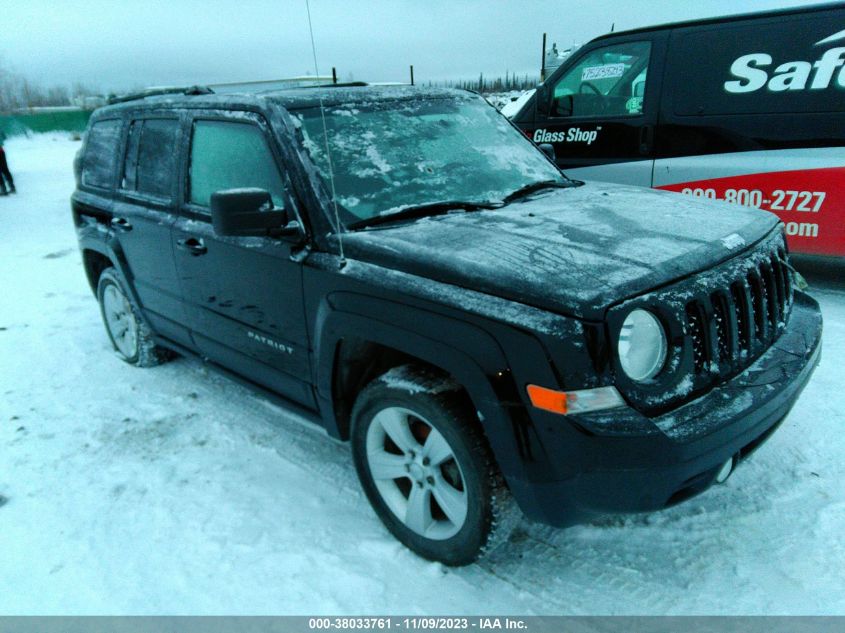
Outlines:
{"type": "Polygon", "coordinates": [[[674,31],[674,114],[845,111],[843,25],[845,11],[674,31]]]}

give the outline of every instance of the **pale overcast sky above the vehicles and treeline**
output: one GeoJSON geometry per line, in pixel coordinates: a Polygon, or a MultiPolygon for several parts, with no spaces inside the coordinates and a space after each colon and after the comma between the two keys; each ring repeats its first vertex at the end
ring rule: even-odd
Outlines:
{"type": "MultiPolygon", "coordinates": [[[[539,73],[558,48],[667,21],[811,0],[311,0],[320,72],[418,81],[539,73]]],[[[101,90],[313,73],[305,0],[2,0],[0,67],[101,90]]]]}

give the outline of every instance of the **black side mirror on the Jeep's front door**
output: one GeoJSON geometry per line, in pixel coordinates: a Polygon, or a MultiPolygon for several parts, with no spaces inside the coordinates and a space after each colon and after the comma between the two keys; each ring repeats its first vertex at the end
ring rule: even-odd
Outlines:
{"type": "Polygon", "coordinates": [[[264,189],[224,189],[211,194],[211,225],[218,235],[281,237],[297,235],[302,225],[287,209],[273,206],[264,189]]]}

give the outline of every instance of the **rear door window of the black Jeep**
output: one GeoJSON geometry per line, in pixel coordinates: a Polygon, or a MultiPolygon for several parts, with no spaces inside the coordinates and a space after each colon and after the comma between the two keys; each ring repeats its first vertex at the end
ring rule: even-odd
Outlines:
{"type": "Polygon", "coordinates": [[[133,121],[129,127],[121,189],[169,199],[176,170],[178,133],[176,119],[133,121]]]}

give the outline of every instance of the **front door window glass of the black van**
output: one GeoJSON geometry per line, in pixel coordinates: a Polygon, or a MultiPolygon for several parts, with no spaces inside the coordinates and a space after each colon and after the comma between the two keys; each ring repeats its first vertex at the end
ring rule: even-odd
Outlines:
{"type": "Polygon", "coordinates": [[[650,42],[613,44],[584,55],[554,86],[552,116],[636,116],[651,56],[650,42]]]}

